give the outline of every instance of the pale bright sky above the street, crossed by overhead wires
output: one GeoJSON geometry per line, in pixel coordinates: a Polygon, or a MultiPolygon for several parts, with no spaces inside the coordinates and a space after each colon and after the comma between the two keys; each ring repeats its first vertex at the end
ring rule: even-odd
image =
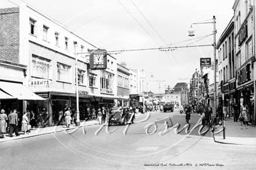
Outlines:
{"type": "Polygon", "coordinates": [[[99,48],[127,50],[113,56],[118,63],[146,71],[144,90],[154,93],[159,93],[159,84],[162,93],[168,85],[172,88],[177,82],[188,82],[180,78],[191,78],[195,68],[200,69],[200,58],[213,60],[213,46],[180,47],[213,44],[213,24],[194,24],[195,36],[188,36],[191,23],[212,22],[213,16],[218,42],[232,19],[234,4],[234,0],[0,0],[0,8],[21,2],[99,48]],[[161,50],[167,47],[177,48],[161,50]]]}

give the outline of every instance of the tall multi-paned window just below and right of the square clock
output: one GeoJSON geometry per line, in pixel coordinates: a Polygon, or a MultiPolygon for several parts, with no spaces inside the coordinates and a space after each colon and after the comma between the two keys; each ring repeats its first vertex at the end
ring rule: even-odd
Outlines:
{"type": "Polygon", "coordinates": [[[107,73],[106,71],[101,70],[101,80],[100,80],[101,92],[113,93],[113,77],[114,77],[113,74],[107,73]]]}

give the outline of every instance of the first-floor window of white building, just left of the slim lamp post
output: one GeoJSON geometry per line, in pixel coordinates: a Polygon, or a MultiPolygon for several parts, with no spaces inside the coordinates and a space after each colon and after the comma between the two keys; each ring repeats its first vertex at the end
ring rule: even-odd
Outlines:
{"type": "Polygon", "coordinates": [[[70,82],[70,66],[57,63],[57,80],[70,82]]]}

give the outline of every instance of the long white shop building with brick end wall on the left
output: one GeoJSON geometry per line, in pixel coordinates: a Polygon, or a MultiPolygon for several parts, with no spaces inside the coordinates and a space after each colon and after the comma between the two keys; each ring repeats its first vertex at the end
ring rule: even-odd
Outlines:
{"type": "MultiPolygon", "coordinates": [[[[90,69],[86,53],[98,49],[97,46],[27,4],[1,9],[1,16],[1,35],[6,40],[0,47],[0,69],[4,71],[1,81],[23,84],[41,96],[40,100],[26,100],[15,106],[22,107],[20,112],[26,108],[33,110],[38,125],[54,125],[59,110],[76,108],[76,83],[82,120],[87,107],[110,107],[118,99],[115,57],[106,56],[104,70],[90,69]]],[[[1,100],[1,107],[7,106],[6,103],[14,107],[8,100],[1,100]]]]}

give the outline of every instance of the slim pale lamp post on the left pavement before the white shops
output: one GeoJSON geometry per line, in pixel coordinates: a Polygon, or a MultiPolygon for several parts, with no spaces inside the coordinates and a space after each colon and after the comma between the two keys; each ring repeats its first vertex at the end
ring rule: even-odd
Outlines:
{"type": "Polygon", "coordinates": [[[76,56],[76,126],[80,126],[80,112],[79,112],[79,93],[78,93],[78,68],[77,68],[77,42],[74,42],[75,45],[75,56],[76,56]]]}

